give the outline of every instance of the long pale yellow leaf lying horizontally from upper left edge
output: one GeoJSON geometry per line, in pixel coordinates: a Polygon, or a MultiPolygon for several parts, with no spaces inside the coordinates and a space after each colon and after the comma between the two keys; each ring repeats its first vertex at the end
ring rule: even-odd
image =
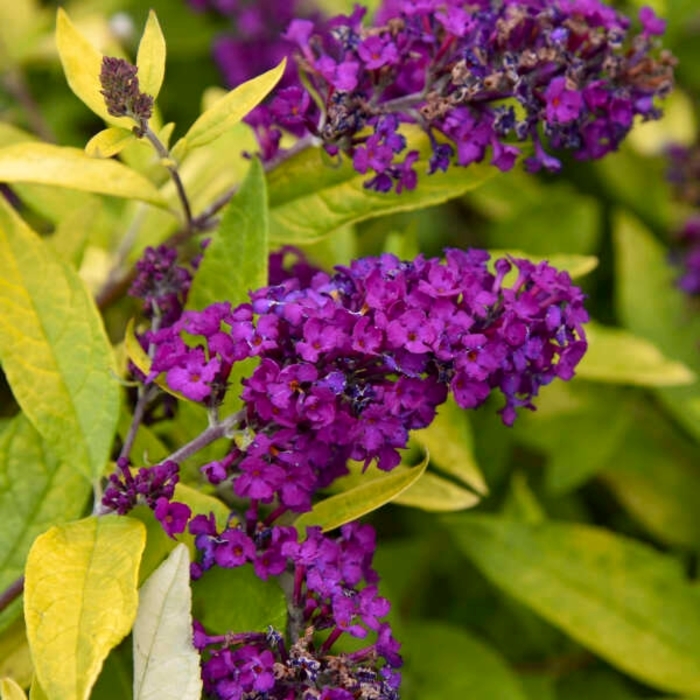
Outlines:
{"type": "Polygon", "coordinates": [[[155,186],[135,170],[116,160],[90,158],[79,148],[50,143],[19,143],[0,149],[0,180],[70,187],[168,207],[155,186]]]}

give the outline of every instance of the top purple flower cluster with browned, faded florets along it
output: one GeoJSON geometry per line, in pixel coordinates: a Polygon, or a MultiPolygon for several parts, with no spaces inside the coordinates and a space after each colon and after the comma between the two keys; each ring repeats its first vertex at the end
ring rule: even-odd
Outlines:
{"type": "Polygon", "coordinates": [[[598,0],[385,0],[370,26],[364,15],[356,6],[290,23],[284,37],[297,47],[300,80],[258,122],[265,157],[279,128],[303,128],[369,173],[367,187],[412,189],[418,153],[401,133],[409,123],[429,138],[430,173],[487,151],[509,170],[521,154],[513,141],[526,140],[526,168],[556,171],[545,142],[600,158],[635,116],[658,118],[654,100],[673,84],[674,59],[656,49],[665,23],[646,7],[634,36],[598,0]]]}

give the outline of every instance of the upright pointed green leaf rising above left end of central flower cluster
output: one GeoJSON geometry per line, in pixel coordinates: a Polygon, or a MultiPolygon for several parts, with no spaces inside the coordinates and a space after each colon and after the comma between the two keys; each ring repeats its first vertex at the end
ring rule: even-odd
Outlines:
{"type": "Polygon", "coordinates": [[[266,286],[268,232],[265,174],[256,158],[204,252],[187,308],[201,310],[220,301],[236,306],[248,300],[250,290],[266,286]]]}

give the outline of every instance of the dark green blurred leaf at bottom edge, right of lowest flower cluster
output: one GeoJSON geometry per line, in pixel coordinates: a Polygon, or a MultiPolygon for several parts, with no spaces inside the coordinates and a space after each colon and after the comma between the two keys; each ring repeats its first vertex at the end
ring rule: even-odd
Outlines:
{"type": "Polygon", "coordinates": [[[402,628],[406,700],[526,700],[506,661],[464,629],[444,622],[402,628]]]}

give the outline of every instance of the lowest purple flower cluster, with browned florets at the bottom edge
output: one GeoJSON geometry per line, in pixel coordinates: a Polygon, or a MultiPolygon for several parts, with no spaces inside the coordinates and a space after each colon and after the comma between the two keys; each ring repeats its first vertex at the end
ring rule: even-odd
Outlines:
{"type": "Polygon", "coordinates": [[[371,526],[345,525],[337,538],[308,528],[299,541],[293,527],[261,529],[250,537],[238,528],[219,533],[213,518],[197,516],[190,530],[203,555],[201,565],[193,564],[195,577],[215,563],[232,568],[252,561],[260,578],[286,577],[290,589],[289,644],[273,629],[210,635],[195,623],[205,692],[226,700],[398,698],[399,644],[381,621],[390,604],[377,592],[371,526]],[[371,644],[331,654],[343,633],[365,639],[370,631],[371,644]]]}

